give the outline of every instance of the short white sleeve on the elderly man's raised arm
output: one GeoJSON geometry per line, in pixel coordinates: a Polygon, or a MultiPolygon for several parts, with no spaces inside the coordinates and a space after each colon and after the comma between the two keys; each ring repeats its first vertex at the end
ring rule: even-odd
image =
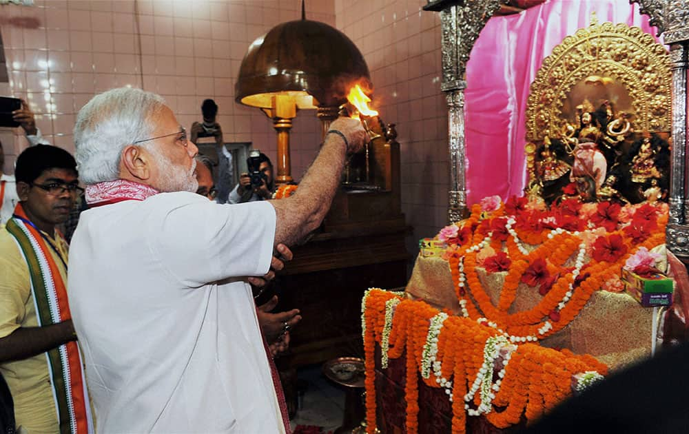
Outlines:
{"type": "Polygon", "coordinates": [[[185,200],[174,200],[182,204],[172,209],[156,207],[163,211],[152,212],[148,233],[152,254],[177,280],[199,287],[267,273],[276,224],[270,203],[218,205],[193,193],[157,196],[173,195],[185,195],[185,200]]]}

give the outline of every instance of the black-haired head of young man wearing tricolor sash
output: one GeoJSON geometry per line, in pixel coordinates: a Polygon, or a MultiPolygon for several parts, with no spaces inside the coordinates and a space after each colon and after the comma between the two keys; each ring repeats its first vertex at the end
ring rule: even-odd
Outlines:
{"type": "Polygon", "coordinates": [[[76,161],[69,152],[36,145],[17,157],[17,196],[28,218],[43,231],[64,223],[81,193],[76,161]]]}

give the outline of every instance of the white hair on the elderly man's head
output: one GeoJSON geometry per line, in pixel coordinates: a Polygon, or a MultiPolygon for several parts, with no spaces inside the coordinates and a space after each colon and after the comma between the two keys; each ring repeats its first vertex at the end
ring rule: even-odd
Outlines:
{"type": "Polygon", "coordinates": [[[160,95],[120,87],[94,96],[76,115],[74,145],[79,178],[85,184],[119,178],[122,150],[150,138],[151,116],[165,107],[160,95]]]}

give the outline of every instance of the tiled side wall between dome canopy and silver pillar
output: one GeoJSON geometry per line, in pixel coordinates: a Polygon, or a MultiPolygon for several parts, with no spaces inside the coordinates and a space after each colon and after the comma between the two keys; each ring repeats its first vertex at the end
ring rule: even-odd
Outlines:
{"type": "Polygon", "coordinates": [[[336,0],[338,29],[364,54],[373,105],[396,123],[402,210],[414,227],[408,249],[446,224],[449,189],[447,107],[440,90],[440,18],[424,0],[336,0]]]}

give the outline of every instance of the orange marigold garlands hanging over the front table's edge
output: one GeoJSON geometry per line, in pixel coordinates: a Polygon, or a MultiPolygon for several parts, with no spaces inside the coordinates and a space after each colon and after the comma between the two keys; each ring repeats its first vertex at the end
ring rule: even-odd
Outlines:
{"type": "Polygon", "coordinates": [[[579,378],[579,390],[607,374],[607,366],[590,355],[513,344],[496,329],[381,289],[365,293],[362,324],[368,433],[376,432],[374,355],[386,334],[389,358],[406,355],[407,433],[418,432],[419,380],[444,389],[452,406],[452,431],[464,433],[467,415],[485,415],[499,428],[520,422],[522,414],[533,421],[572,393],[573,378],[579,378]]]}

